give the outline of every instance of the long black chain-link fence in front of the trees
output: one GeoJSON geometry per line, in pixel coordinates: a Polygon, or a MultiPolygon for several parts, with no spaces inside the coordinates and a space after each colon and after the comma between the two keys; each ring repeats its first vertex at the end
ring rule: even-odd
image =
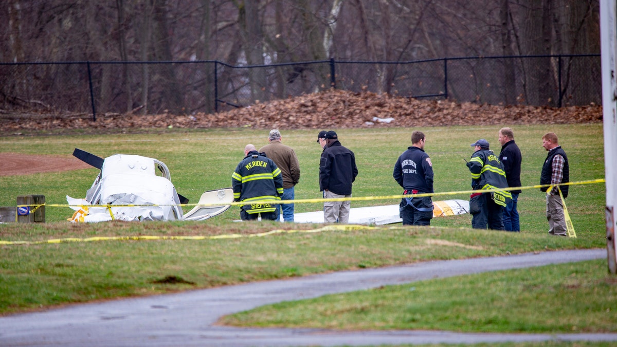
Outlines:
{"type": "Polygon", "coordinates": [[[602,103],[600,55],[460,57],[412,62],[218,61],[0,63],[0,112],[60,115],[220,112],[338,88],[458,102],[602,103]]]}

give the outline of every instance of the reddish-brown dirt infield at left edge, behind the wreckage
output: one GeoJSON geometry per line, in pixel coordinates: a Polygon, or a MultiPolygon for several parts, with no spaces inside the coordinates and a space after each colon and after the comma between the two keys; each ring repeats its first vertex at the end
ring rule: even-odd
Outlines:
{"type": "Polygon", "coordinates": [[[0,153],[0,176],[30,175],[91,167],[73,156],[41,156],[18,153],[0,153]]]}

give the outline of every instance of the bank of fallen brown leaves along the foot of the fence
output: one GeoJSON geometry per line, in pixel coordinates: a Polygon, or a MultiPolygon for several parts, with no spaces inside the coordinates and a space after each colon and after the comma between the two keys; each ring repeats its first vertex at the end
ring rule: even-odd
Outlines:
{"type": "Polygon", "coordinates": [[[370,92],[330,90],[233,109],[194,115],[36,115],[3,117],[1,133],[25,130],[131,128],[367,128],[443,125],[518,125],[602,122],[602,106],[495,106],[447,100],[417,100],[370,92]],[[389,119],[392,119],[388,122],[389,119]]]}

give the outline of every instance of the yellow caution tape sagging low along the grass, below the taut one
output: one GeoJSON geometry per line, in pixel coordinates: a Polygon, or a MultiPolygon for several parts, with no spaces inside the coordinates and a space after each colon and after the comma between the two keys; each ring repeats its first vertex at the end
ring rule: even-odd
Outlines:
{"type": "Polygon", "coordinates": [[[225,235],[213,235],[213,236],[152,236],[152,235],[136,235],[136,236],[96,236],[88,238],[52,238],[50,240],[43,241],[2,241],[0,245],[41,245],[43,243],[67,243],[67,242],[93,242],[93,241],[117,241],[117,240],[218,240],[224,238],[251,238],[251,237],[263,237],[268,235],[283,234],[283,233],[320,233],[320,232],[333,232],[333,231],[352,231],[352,230],[373,230],[379,227],[369,227],[368,225],[326,225],[325,227],[317,229],[275,229],[269,232],[256,233],[256,234],[225,234],[225,235]]]}

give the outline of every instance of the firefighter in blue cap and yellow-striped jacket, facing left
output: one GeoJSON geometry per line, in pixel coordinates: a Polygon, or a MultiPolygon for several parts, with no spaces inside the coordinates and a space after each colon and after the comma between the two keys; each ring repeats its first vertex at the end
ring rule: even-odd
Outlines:
{"type": "MultiPolygon", "coordinates": [[[[472,143],[471,146],[476,150],[467,162],[467,167],[471,172],[471,188],[473,190],[508,188],[503,164],[499,161],[499,157],[489,149],[489,141],[481,139],[472,143]]],[[[469,212],[473,216],[471,227],[504,230],[503,207],[511,198],[510,191],[505,190],[471,194],[469,201],[469,212]]]]}

